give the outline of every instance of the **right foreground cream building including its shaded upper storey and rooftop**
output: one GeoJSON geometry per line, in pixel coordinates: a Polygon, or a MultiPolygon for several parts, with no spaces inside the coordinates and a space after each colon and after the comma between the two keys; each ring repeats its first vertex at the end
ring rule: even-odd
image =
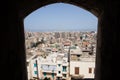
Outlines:
{"type": "Polygon", "coordinates": [[[88,52],[83,53],[79,48],[70,50],[71,79],[94,79],[95,57],[88,52]]]}

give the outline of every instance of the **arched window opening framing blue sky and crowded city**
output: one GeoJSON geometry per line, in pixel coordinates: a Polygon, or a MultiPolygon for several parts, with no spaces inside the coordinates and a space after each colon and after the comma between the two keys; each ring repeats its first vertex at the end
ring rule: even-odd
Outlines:
{"type": "Polygon", "coordinates": [[[94,79],[97,22],[88,11],[65,3],[28,15],[24,19],[28,79],[94,79]]]}

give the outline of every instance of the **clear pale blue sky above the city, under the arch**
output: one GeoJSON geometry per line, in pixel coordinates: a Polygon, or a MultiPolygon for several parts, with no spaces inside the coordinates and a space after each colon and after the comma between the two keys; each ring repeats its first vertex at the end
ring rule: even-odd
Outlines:
{"type": "Polygon", "coordinates": [[[96,30],[97,17],[92,13],[65,3],[39,8],[24,19],[26,30],[96,30]]]}

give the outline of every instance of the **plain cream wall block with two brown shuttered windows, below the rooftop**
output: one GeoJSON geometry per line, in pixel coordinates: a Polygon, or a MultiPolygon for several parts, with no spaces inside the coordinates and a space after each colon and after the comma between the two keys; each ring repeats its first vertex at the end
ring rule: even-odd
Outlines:
{"type": "Polygon", "coordinates": [[[91,61],[71,61],[70,75],[80,78],[94,78],[95,62],[91,61]]]}

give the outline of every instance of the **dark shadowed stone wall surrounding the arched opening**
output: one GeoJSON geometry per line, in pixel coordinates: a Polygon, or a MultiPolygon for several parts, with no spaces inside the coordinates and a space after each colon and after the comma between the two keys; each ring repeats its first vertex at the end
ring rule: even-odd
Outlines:
{"type": "MultiPolygon", "coordinates": [[[[113,77],[112,65],[116,66],[118,63],[112,63],[113,57],[119,56],[119,1],[115,0],[9,0],[2,2],[7,3],[8,7],[2,6],[1,13],[3,14],[2,24],[6,23],[5,16],[8,16],[8,25],[4,24],[2,29],[2,67],[7,69],[7,75],[11,80],[27,80],[26,64],[25,64],[25,48],[24,48],[24,29],[23,19],[29,13],[37,9],[43,3],[54,2],[73,2],[80,5],[86,10],[96,13],[98,16],[98,38],[97,40],[97,69],[95,80],[109,80],[113,77]],[[41,4],[40,4],[41,2],[41,4]],[[39,4],[38,4],[39,3],[39,4]],[[87,7],[88,6],[88,7],[87,7]],[[30,10],[29,10],[30,9],[30,10]],[[8,15],[6,15],[8,10],[8,15]],[[102,46],[101,46],[102,45],[102,46]],[[112,54],[115,55],[112,55],[112,54]],[[7,68],[6,68],[7,67],[7,68]],[[9,68],[8,68],[9,67],[9,68]]],[[[3,70],[3,71],[4,71],[3,70]]],[[[119,71],[115,68],[114,71],[119,71]]],[[[3,72],[5,73],[5,71],[3,72]]],[[[119,77],[119,76],[116,76],[119,77]]],[[[7,77],[4,77],[7,78],[7,77]]]]}

